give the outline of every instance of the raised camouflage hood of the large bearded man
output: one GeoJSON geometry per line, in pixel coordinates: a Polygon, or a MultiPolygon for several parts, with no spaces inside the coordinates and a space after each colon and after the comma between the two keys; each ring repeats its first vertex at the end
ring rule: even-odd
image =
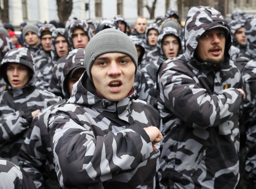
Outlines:
{"type": "MultiPolygon", "coordinates": [[[[185,23],[185,56],[188,60],[194,59],[194,52],[198,45],[198,39],[207,30],[221,27],[226,34],[225,57],[229,63],[228,50],[231,47],[230,29],[226,19],[220,12],[208,6],[195,6],[188,12],[185,23]]],[[[195,60],[195,59],[194,59],[195,60]]]]}

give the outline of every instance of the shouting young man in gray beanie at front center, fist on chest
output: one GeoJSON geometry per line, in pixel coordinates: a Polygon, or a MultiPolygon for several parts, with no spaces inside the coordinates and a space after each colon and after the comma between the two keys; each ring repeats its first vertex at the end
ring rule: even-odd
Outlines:
{"type": "Polygon", "coordinates": [[[137,100],[137,61],[133,41],[116,29],[87,44],[86,72],[49,119],[62,188],[155,188],[161,119],[137,100]]]}

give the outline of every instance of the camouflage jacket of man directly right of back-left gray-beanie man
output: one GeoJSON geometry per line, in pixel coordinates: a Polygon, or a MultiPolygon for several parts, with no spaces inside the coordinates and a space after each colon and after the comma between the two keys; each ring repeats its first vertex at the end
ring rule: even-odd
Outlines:
{"type": "MultiPolygon", "coordinates": [[[[55,26],[52,24],[44,24],[38,30],[38,36],[42,35],[42,32],[47,30],[53,33],[55,26]]],[[[45,51],[42,47],[39,54],[34,57],[35,66],[37,69],[37,82],[35,86],[47,89],[52,76],[53,61],[51,59],[51,52],[45,51]]]]}

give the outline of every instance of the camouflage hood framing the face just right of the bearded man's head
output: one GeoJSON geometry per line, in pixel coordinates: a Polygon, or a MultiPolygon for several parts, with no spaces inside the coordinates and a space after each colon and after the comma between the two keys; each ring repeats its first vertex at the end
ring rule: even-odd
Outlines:
{"type": "Polygon", "coordinates": [[[241,53],[245,53],[247,45],[246,44],[243,45],[243,44],[238,43],[238,41],[235,38],[235,33],[236,33],[236,30],[238,30],[241,27],[244,27],[244,24],[245,24],[245,20],[244,19],[232,20],[229,23],[230,31],[231,31],[231,37],[232,37],[232,40],[233,40],[232,45],[234,45],[235,47],[239,48],[241,53]]]}

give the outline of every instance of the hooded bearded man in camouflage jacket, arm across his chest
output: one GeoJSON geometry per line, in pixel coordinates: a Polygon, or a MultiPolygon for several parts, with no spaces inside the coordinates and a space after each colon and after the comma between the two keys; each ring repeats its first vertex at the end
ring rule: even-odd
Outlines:
{"type": "Polygon", "coordinates": [[[230,61],[226,19],[211,7],[192,7],[185,53],[158,72],[163,119],[161,188],[235,188],[239,181],[238,110],[245,98],[230,61]]]}

